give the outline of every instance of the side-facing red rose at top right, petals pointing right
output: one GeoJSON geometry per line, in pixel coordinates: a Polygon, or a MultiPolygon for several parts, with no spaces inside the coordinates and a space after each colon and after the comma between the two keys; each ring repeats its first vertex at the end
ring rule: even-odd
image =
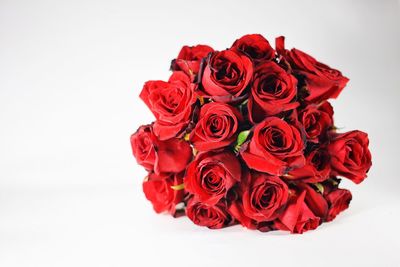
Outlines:
{"type": "Polygon", "coordinates": [[[318,103],[328,98],[336,98],[349,81],[336,69],[318,62],[312,56],[293,48],[284,48],[284,37],[276,39],[276,50],[286,60],[294,73],[305,78],[309,102],[318,103]]]}

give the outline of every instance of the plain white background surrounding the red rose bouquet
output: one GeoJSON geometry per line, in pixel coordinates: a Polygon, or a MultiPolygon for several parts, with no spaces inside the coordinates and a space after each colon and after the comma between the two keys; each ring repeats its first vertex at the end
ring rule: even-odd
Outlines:
{"type": "Polygon", "coordinates": [[[398,1],[0,0],[0,266],[400,266],[399,48],[398,1]],[[336,125],[369,133],[373,167],[316,231],[211,231],[143,196],[143,83],[246,33],[350,78],[336,125]]]}

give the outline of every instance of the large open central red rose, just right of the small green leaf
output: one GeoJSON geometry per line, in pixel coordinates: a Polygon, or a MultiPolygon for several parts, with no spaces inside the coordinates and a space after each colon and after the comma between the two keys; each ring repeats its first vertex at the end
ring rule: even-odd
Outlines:
{"type": "Polygon", "coordinates": [[[240,154],[249,168],[272,175],[302,167],[304,141],[298,128],[277,117],[266,118],[254,128],[240,154]]]}

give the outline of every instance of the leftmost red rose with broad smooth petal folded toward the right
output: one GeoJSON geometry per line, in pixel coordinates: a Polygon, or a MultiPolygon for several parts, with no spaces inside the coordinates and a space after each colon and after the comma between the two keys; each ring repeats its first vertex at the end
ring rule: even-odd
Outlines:
{"type": "Polygon", "coordinates": [[[187,142],[176,138],[158,140],[150,125],[139,127],[131,136],[131,145],[138,164],[156,174],[183,171],[193,156],[187,142]]]}

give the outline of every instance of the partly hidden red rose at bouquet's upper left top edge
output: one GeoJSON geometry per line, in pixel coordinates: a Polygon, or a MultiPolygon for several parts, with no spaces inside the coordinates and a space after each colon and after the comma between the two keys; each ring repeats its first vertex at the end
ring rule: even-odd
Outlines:
{"type": "Polygon", "coordinates": [[[214,49],[208,45],[185,45],[178,57],[172,61],[171,69],[173,71],[181,70],[193,79],[199,73],[201,60],[213,51],[214,49]]]}

